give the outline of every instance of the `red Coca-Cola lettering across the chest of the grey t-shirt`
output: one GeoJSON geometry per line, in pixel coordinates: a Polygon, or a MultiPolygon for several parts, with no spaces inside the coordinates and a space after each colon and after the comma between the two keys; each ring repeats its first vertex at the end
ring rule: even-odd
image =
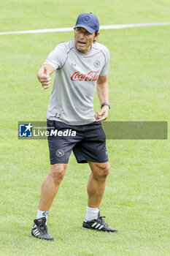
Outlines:
{"type": "Polygon", "coordinates": [[[80,71],[74,72],[72,81],[96,81],[98,80],[99,70],[90,71],[88,74],[82,74],[80,71]]]}

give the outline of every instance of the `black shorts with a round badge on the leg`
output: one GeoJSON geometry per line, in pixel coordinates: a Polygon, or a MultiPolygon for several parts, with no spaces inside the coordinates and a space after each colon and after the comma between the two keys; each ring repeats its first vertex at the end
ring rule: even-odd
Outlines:
{"type": "Polygon", "coordinates": [[[106,135],[100,122],[73,126],[47,119],[50,163],[68,163],[74,152],[78,163],[108,162],[106,135]]]}

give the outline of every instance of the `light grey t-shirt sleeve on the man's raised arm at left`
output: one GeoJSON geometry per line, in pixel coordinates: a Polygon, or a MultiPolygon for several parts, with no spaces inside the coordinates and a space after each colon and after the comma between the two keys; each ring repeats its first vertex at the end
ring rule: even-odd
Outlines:
{"type": "Polygon", "coordinates": [[[54,69],[60,69],[66,61],[66,50],[61,43],[47,56],[44,64],[50,64],[54,69]]]}

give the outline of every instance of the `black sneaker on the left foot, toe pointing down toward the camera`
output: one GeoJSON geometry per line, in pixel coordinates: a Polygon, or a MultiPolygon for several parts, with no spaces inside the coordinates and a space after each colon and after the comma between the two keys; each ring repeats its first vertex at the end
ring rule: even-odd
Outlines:
{"type": "Polygon", "coordinates": [[[34,219],[34,225],[31,230],[31,235],[36,238],[45,239],[48,241],[54,241],[53,236],[48,233],[47,225],[45,225],[46,218],[34,219]]]}

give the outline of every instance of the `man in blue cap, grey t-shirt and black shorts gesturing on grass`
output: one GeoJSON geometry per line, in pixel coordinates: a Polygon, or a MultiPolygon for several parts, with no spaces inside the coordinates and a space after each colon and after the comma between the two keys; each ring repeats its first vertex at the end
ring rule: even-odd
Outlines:
{"type": "Polygon", "coordinates": [[[88,206],[83,228],[117,232],[100,217],[99,206],[104,195],[109,162],[106,136],[101,122],[109,112],[107,72],[109,50],[96,42],[99,35],[96,15],[81,13],[74,26],[74,39],[61,42],[47,57],[37,73],[44,89],[50,86],[50,75],[55,72],[53,91],[47,109],[47,127],[74,136],[49,136],[50,173],[42,184],[39,209],[31,235],[53,241],[47,231],[47,214],[58,192],[69,156],[74,151],[77,162],[88,162],[88,206]],[[93,95],[97,85],[101,111],[94,114],[93,95]]]}

